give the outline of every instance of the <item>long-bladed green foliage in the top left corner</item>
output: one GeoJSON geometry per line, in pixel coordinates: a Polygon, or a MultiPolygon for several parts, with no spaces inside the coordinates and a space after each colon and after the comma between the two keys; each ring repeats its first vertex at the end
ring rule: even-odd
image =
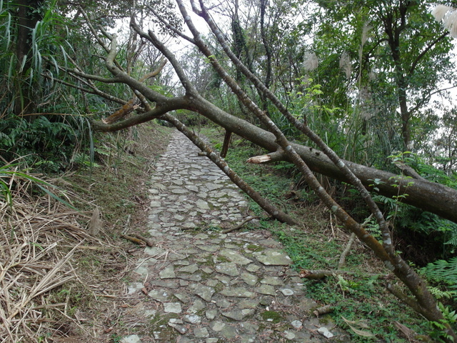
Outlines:
{"type": "MultiPolygon", "coordinates": [[[[26,33],[27,44],[22,47],[27,51],[24,59],[19,59],[19,37],[17,26],[18,6],[15,1],[2,1],[0,8],[0,46],[4,53],[0,55],[0,89],[5,92],[0,97],[0,113],[6,114],[11,108],[21,108],[33,113],[41,101],[49,96],[54,87],[53,81],[61,76],[59,57],[66,45],[66,19],[56,11],[56,1],[43,1],[37,8],[29,9],[29,14],[36,19],[36,25],[26,33]],[[21,65],[19,65],[19,63],[21,65]],[[45,78],[43,75],[49,77],[45,78]]],[[[19,113],[16,113],[19,114],[19,113]]]]}

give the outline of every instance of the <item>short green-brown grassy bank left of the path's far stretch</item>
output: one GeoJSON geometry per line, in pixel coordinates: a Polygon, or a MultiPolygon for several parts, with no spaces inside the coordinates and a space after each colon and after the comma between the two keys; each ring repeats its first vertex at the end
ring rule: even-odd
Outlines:
{"type": "Polygon", "coordinates": [[[85,199],[91,198],[94,207],[100,207],[106,227],[111,227],[114,237],[119,234],[117,230],[124,229],[129,216],[146,206],[149,175],[168,143],[169,134],[170,129],[157,124],[99,134],[95,164],[83,164],[76,172],[67,174],[66,181],[71,187],[85,199]]]}

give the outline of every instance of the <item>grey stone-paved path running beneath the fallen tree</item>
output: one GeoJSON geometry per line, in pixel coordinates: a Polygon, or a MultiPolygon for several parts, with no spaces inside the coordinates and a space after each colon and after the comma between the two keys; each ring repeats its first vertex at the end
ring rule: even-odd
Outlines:
{"type": "Polygon", "coordinates": [[[121,342],[326,342],[333,329],[306,317],[316,303],[281,244],[262,230],[217,231],[239,224],[248,204],[198,152],[176,131],[156,164],[148,224],[156,245],[144,250],[128,295],[142,320],[121,342]]]}

